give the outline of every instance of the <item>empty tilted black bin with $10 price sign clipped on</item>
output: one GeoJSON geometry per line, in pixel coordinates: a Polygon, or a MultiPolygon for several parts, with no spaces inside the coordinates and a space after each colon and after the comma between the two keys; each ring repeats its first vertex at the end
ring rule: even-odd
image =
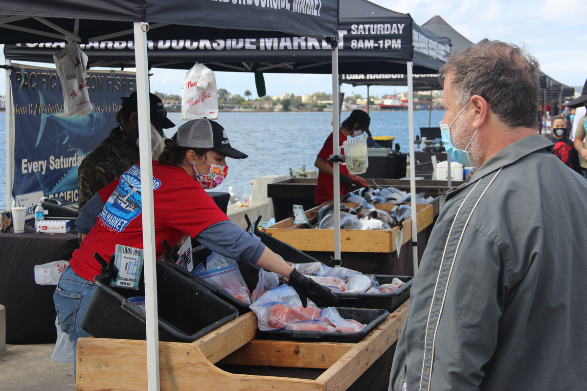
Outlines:
{"type": "MultiPolygon", "coordinates": [[[[238,311],[191,278],[166,263],[156,262],[159,340],[193,342],[234,320],[238,311]]],[[[94,278],[97,285],[83,318],[82,329],[98,338],[146,339],[145,311],[127,299],[140,290],[110,287],[110,276],[94,278]]]]}

